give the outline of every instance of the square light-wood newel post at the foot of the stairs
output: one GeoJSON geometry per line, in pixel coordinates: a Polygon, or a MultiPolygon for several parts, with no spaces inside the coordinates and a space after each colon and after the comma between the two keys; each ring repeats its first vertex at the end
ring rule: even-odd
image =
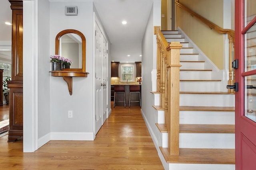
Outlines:
{"type": "Polygon", "coordinates": [[[167,64],[167,92],[168,92],[168,116],[166,126],[168,129],[168,151],[170,155],[179,155],[180,133],[180,42],[171,42],[166,48],[170,51],[167,64]]]}

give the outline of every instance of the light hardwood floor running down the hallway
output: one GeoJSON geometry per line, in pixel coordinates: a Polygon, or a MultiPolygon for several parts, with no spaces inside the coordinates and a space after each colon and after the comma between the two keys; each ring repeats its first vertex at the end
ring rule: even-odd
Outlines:
{"type": "Polygon", "coordinates": [[[50,141],[33,153],[0,138],[1,170],[163,170],[140,107],[116,106],[94,141],[50,141]]]}

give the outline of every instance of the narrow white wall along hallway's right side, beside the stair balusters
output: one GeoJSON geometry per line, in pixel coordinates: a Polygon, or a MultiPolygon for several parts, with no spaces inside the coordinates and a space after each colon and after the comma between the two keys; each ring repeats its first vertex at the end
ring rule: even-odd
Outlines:
{"type": "Polygon", "coordinates": [[[152,10],[148,18],[148,23],[142,39],[142,115],[150,131],[150,135],[154,142],[156,140],[156,125],[155,116],[156,110],[152,107],[154,105],[154,94],[152,91],[151,72],[156,69],[156,35],[154,35],[154,26],[161,25],[161,1],[155,0],[153,2],[152,10]]]}

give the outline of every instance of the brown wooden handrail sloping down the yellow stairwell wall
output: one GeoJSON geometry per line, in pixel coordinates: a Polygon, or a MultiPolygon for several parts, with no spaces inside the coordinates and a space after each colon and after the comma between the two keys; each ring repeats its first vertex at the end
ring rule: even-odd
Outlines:
{"type": "Polygon", "coordinates": [[[196,12],[193,12],[188,7],[184,6],[180,2],[176,1],[175,4],[185,10],[186,12],[190,13],[192,16],[195,16],[198,20],[202,21],[204,24],[208,25],[210,29],[213,29],[214,31],[217,31],[218,33],[228,34],[229,36],[233,37],[233,43],[235,42],[235,31],[232,29],[223,29],[222,27],[219,27],[215,23],[212,23],[211,21],[207,20],[206,18],[200,16],[196,12]]]}

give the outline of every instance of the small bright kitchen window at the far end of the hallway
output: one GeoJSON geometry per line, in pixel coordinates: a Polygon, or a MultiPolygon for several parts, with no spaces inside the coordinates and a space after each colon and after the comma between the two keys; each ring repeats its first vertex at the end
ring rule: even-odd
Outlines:
{"type": "Polygon", "coordinates": [[[134,82],[134,64],[121,64],[121,75],[120,81],[121,82],[134,82]]]}

